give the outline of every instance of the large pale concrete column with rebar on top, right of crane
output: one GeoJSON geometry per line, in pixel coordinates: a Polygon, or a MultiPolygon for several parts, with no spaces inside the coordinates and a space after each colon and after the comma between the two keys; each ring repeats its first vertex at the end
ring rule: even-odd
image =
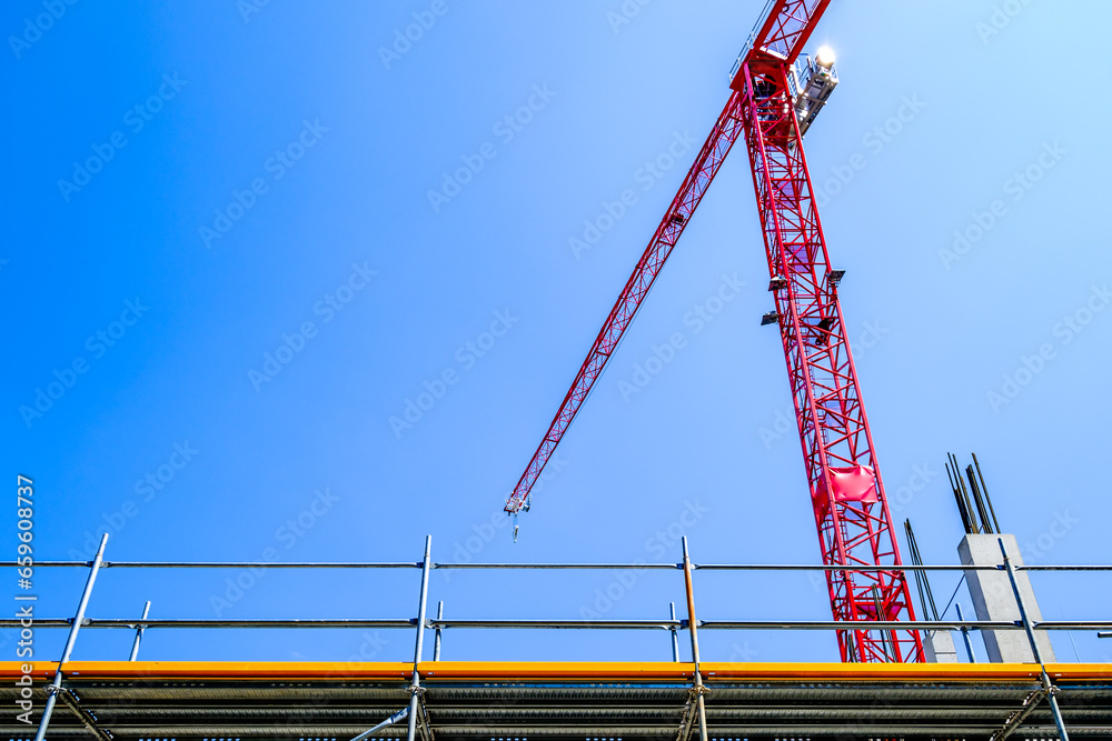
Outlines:
{"type": "MultiPolygon", "coordinates": [[[[1023,565],[1020,557],[1020,545],[1015,542],[1015,535],[979,534],[965,535],[961,544],[957,545],[957,553],[964,565],[1003,565],[1004,557],[1000,554],[997,538],[1004,539],[1004,547],[1015,565],[1023,565]]],[[[1020,594],[1023,595],[1023,605],[1027,610],[1027,615],[1032,621],[1042,620],[1042,612],[1039,610],[1039,602],[1035,600],[1034,590],[1031,589],[1031,580],[1025,571],[1015,574],[1020,594]]],[[[1020,619],[1020,608],[1015,604],[1015,594],[1012,592],[1012,584],[1007,580],[1004,571],[966,571],[965,581],[970,587],[970,595],[973,598],[973,609],[976,610],[977,620],[1006,620],[1017,621],[1020,619]]],[[[1033,663],[1035,658],[1031,652],[1031,643],[1022,630],[983,630],[984,647],[989,652],[989,661],[994,663],[1033,663]]],[[[1050,643],[1046,631],[1035,631],[1035,641],[1039,643],[1039,651],[1043,661],[1050,663],[1054,661],[1054,649],[1050,643]]]]}

